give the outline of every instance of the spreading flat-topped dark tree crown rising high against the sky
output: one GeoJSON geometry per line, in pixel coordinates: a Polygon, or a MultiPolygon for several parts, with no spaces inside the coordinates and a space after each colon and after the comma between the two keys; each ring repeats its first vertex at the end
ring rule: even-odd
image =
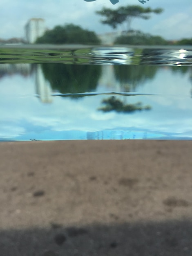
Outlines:
{"type": "Polygon", "coordinates": [[[126,31],[130,30],[131,21],[133,18],[142,18],[144,20],[148,20],[150,18],[148,15],[149,13],[159,14],[162,12],[162,8],[143,8],[139,5],[127,5],[126,7],[119,7],[116,10],[104,7],[101,11],[96,11],[96,13],[105,17],[105,20],[101,20],[101,22],[111,26],[113,29],[115,29],[118,25],[126,22],[126,31]]]}

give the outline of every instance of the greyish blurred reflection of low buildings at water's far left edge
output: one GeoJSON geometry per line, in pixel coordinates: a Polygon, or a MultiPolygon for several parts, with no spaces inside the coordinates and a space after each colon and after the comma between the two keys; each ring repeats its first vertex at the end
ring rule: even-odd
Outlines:
{"type": "Polygon", "coordinates": [[[2,63],[0,64],[0,78],[6,75],[21,74],[29,76],[31,74],[31,64],[29,63],[2,63]]]}

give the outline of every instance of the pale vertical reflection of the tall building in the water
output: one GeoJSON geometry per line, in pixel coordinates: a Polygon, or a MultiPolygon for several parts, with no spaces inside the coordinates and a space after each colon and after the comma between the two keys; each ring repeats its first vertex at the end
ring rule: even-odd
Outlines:
{"type": "Polygon", "coordinates": [[[40,64],[36,65],[36,94],[43,103],[52,102],[52,89],[48,81],[45,80],[45,77],[42,72],[40,64]]]}

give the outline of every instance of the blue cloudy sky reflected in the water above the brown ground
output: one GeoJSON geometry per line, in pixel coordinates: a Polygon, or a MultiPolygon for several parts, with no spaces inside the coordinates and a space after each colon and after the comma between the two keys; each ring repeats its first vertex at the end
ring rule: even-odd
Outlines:
{"type": "MultiPolygon", "coordinates": [[[[141,101],[144,106],[152,106],[152,110],[128,114],[97,110],[110,95],[78,100],[55,96],[52,103],[42,103],[34,97],[34,74],[4,76],[0,79],[0,139],[191,138],[190,75],[173,72],[169,67],[159,68],[154,79],[138,85],[136,91],[153,95],[117,96],[125,103],[141,101]]],[[[102,81],[98,92],[101,88],[114,91],[102,81]]]]}

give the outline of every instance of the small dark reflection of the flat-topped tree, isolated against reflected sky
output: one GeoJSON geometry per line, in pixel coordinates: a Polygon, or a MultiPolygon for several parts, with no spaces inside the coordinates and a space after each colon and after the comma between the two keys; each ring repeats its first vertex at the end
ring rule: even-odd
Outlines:
{"type": "Polygon", "coordinates": [[[142,106],[141,102],[137,102],[135,104],[125,104],[120,99],[116,99],[114,96],[104,99],[102,103],[105,104],[105,107],[98,108],[98,110],[103,112],[116,111],[118,113],[131,113],[136,110],[151,110],[151,106],[149,105],[142,106]]]}

